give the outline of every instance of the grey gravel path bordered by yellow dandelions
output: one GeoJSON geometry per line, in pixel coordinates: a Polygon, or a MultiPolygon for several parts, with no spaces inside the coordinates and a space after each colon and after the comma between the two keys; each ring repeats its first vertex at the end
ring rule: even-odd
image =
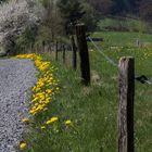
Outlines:
{"type": "Polygon", "coordinates": [[[0,60],[0,152],[15,152],[20,144],[36,74],[30,60],[0,60]]]}

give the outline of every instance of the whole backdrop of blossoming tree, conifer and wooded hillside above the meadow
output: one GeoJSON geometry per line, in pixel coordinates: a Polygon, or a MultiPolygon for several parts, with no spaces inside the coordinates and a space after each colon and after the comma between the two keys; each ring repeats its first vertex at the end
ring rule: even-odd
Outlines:
{"type": "Polygon", "coordinates": [[[39,50],[68,39],[69,26],[84,22],[88,31],[152,33],[151,0],[1,0],[0,54],[39,50]],[[26,9],[25,9],[26,8],[26,9]]]}

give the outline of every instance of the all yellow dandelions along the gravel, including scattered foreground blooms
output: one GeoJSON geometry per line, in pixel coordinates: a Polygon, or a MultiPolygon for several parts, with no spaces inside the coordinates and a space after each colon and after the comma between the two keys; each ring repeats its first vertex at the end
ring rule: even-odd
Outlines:
{"type": "MultiPolygon", "coordinates": [[[[52,101],[53,96],[59,92],[60,88],[58,87],[59,80],[53,76],[53,72],[56,69],[50,64],[50,62],[43,61],[40,55],[36,54],[21,54],[16,56],[17,59],[30,59],[34,61],[35,66],[39,71],[39,79],[36,85],[31,88],[31,107],[29,113],[31,115],[37,115],[46,110],[48,110],[48,104],[52,101]]],[[[22,123],[29,123],[29,118],[23,118],[22,123]]],[[[53,131],[59,132],[58,125],[60,121],[59,117],[53,116],[45,121],[43,125],[40,126],[40,129],[48,129],[55,125],[54,128],[51,128],[53,131]]],[[[69,119],[64,122],[64,126],[73,126],[69,119]]],[[[26,149],[27,143],[22,142],[20,149],[26,149]]]]}

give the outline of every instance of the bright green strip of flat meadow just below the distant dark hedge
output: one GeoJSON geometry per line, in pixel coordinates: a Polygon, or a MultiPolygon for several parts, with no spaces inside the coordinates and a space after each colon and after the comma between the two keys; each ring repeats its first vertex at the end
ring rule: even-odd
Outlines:
{"type": "Polygon", "coordinates": [[[103,38],[102,46],[121,46],[121,47],[137,47],[137,40],[141,46],[152,46],[152,35],[140,33],[124,33],[124,31],[97,31],[93,37],[103,38]]]}

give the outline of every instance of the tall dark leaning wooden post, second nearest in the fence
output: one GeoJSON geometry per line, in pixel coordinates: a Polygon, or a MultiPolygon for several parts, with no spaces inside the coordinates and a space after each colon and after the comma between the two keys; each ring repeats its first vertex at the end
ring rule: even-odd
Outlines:
{"type": "Polygon", "coordinates": [[[76,25],[76,36],[80,56],[80,71],[81,71],[81,83],[85,85],[90,84],[90,63],[89,52],[86,40],[86,26],[85,24],[76,25]]]}

